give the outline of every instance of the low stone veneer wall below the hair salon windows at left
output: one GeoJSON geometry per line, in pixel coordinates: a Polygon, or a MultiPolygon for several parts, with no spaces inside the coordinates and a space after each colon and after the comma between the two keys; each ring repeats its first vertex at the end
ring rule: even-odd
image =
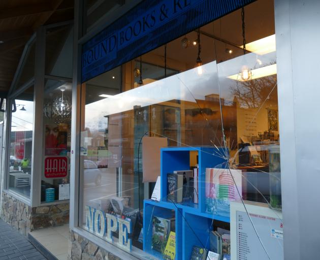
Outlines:
{"type": "Polygon", "coordinates": [[[23,235],[69,223],[69,203],[31,208],[6,192],[2,195],[2,218],[23,235]]]}

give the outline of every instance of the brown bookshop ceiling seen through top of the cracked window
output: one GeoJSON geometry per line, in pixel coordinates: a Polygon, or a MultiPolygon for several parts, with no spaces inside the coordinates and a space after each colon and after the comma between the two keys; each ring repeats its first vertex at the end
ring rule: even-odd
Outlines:
{"type": "MultiPolygon", "coordinates": [[[[243,45],[241,9],[236,10],[220,19],[217,19],[200,28],[201,58],[203,63],[213,60],[217,62],[225,61],[239,55],[243,55],[243,49],[236,46],[243,45]],[[214,40],[211,35],[223,40],[214,40]],[[230,45],[228,43],[232,43],[230,45]],[[233,50],[230,55],[226,48],[233,50]]],[[[273,0],[258,0],[245,7],[245,38],[246,43],[250,43],[267,36],[275,34],[274,30],[274,3],[273,0]]],[[[187,69],[194,68],[198,56],[198,46],[191,43],[197,39],[197,31],[189,32],[185,36],[167,44],[167,58],[183,62],[187,69]],[[190,46],[182,48],[181,40],[186,37],[190,41],[190,46]]],[[[164,56],[164,46],[152,51],[152,53],[164,56]]],[[[143,56],[142,56],[143,59],[143,56]]],[[[172,68],[177,69],[177,68],[172,68]]]]}

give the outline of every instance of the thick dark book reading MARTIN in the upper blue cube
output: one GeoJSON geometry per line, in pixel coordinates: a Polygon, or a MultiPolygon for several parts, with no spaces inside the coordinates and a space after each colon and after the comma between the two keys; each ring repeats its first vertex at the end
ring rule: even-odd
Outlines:
{"type": "Polygon", "coordinates": [[[167,201],[181,203],[183,197],[183,175],[167,174],[167,201]]]}

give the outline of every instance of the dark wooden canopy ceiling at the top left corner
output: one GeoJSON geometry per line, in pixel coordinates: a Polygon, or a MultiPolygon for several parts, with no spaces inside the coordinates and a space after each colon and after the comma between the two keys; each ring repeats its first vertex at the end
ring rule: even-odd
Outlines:
{"type": "Polygon", "coordinates": [[[41,25],[73,20],[74,0],[0,1],[0,95],[8,92],[26,42],[41,25]]]}

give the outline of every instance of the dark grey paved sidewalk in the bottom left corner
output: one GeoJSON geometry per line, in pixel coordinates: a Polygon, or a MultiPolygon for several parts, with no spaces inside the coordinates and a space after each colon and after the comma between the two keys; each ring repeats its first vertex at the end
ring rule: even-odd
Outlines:
{"type": "Polygon", "coordinates": [[[0,219],[0,260],[46,260],[33,244],[0,219]]]}

